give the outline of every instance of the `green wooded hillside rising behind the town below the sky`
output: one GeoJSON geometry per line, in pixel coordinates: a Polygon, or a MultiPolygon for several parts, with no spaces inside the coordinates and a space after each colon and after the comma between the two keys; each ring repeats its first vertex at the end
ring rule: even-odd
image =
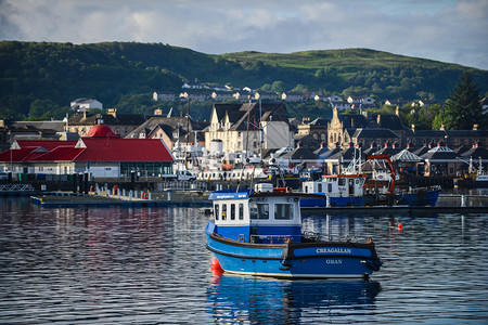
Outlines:
{"type": "MultiPolygon", "coordinates": [[[[152,114],[155,107],[184,112],[183,104],[152,101],[154,91],[179,94],[183,80],[372,96],[377,102],[442,102],[464,73],[486,95],[486,70],[368,49],[210,55],[163,43],[1,41],[0,119],[60,118],[78,98],[95,99],[123,113],[152,114]]],[[[291,115],[304,116],[313,105],[291,105],[291,115]]],[[[211,103],[197,104],[192,116],[206,119],[210,108],[211,103]]],[[[318,107],[324,114],[328,108],[318,107]]]]}

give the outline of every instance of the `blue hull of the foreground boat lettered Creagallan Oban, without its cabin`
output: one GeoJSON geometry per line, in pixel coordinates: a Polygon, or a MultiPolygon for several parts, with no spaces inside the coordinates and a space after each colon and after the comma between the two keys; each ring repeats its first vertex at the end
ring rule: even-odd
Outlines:
{"type": "Polygon", "coordinates": [[[226,272],[287,278],[361,278],[380,270],[374,244],[251,244],[207,234],[226,272]]]}

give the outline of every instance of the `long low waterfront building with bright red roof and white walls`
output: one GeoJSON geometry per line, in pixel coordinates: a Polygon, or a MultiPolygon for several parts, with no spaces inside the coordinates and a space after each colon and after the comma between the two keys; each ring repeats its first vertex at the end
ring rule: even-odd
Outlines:
{"type": "Polygon", "coordinates": [[[92,178],[172,173],[174,157],[156,139],[120,139],[110,127],[98,125],[78,141],[15,141],[0,153],[0,170],[14,173],[73,174],[92,178]]]}

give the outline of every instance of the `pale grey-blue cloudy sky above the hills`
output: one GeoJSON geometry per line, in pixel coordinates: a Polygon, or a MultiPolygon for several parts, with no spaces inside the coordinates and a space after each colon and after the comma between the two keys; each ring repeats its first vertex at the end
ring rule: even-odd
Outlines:
{"type": "Polygon", "coordinates": [[[488,0],[0,0],[0,39],[211,54],[368,48],[488,69],[488,0]]]}

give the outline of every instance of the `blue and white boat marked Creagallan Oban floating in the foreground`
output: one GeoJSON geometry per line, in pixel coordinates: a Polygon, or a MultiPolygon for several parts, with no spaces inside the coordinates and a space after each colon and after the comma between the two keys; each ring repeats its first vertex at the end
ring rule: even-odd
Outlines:
{"type": "Polygon", "coordinates": [[[374,243],[301,234],[299,200],[271,184],[210,193],[207,248],[224,272],[287,278],[368,277],[382,261],[374,243]]]}

